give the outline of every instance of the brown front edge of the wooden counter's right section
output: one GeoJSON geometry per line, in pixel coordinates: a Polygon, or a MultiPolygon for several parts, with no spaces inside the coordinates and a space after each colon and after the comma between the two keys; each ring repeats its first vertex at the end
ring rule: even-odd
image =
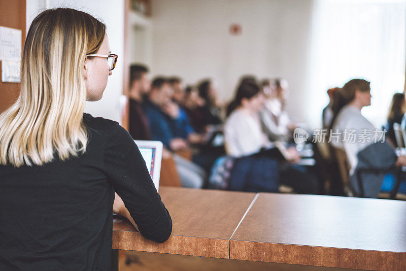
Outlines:
{"type": "Polygon", "coordinates": [[[406,253],[230,241],[230,259],[352,269],[404,270],[406,253]]]}

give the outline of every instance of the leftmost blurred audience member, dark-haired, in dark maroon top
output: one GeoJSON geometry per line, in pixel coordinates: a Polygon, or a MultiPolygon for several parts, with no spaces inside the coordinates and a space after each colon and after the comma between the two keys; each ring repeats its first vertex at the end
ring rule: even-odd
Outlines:
{"type": "Polygon", "coordinates": [[[131,65],[129,90],[129,133],[135,140],[151,140],[147,116],[142,104],[148,94],[151,82],[148,68],[144,65],[131,65]]]}

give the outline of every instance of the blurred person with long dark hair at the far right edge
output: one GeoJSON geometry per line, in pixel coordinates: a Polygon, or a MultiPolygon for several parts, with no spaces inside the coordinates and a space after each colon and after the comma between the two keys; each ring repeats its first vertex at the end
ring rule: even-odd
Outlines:
{"type": "Polygon", "coordinates": [[[392,101],[389,107],[389,113],[387,117],[387,137],[396,146],[395,131],[393,130],[394,123],[401,123],[405,111],[405,99],[403,93],[393,94],[392,101]]]}

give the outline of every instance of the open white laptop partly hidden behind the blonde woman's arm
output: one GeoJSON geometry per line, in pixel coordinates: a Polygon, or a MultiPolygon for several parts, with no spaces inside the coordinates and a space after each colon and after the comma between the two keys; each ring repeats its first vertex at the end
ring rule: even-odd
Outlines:
{"type": "Polygon", "coordinates": [[[161,173],[161,161],[162,161],[162,142],[160,141],[145,141],[145,140],[134,140],[138,148],[140,149],[141,155],[145,160],[148,172],[151,175],[152,181],[154,182],[156,191],[159,188],[159,176],[161,173]]]}

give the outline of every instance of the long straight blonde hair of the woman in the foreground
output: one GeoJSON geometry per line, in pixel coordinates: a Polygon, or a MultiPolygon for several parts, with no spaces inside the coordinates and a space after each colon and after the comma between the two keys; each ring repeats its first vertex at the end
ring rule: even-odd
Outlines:
{"type": "Polygon", "coordinates": [[[84,60],[105,34],[103,23],[73,9],[45,10],[32,21],[20,95],[0,115],[0,164],[42,165],[86,151],[84,60]]]}

